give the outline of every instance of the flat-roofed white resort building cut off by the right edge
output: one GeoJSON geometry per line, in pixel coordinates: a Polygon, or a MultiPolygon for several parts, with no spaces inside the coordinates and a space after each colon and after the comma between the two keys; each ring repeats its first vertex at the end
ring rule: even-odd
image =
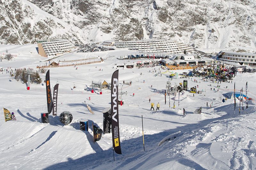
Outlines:
{"type": "Polygon", "coordinates": [[[220,51],[218,59],[225,62],[236,62],[240,65],[256,66],[256,53],[237,53],[233,51],[220,51]]]}

